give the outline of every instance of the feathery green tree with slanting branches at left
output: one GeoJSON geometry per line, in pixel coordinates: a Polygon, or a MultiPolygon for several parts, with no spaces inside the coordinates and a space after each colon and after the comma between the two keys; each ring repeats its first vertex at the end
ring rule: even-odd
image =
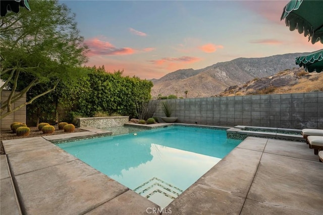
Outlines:
{"type": "Polygon", "coordinates": [[[5,87],[11,90],[9,98],[2,100],[1,119],[55,90],[60,82],[77,80],[83,74],[76,68],[87,60],[87,47],[70,9],[55,0],[30,5],[32,11],[1,17],[0,71],[6,81],[1,91],[5,87]],[[51,86],[28,96],[27,92],[40,84],[51,86]],[[27,101],[12,109],[12,103],[25,93],[27,101]]]}

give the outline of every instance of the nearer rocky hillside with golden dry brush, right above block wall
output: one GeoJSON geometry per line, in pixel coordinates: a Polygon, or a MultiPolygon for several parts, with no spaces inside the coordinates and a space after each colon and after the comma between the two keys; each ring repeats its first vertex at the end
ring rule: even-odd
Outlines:
{"type": "Polygon", "coordinates": [[[281,71],[265,78],[255,78],[240,86],[228,87],[216,96],[323,91],[322,83],[323,72],[308,73],[298,68],[281,71]]]}

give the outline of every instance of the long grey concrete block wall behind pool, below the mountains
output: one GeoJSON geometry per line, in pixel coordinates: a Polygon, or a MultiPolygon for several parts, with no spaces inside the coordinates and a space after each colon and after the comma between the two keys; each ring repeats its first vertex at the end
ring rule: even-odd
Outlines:
{"type": "Polygon", "coordinates": [[[179,123],[323,129],[323,92],[160,100],[155,117],[164,101],[179,123]]]}

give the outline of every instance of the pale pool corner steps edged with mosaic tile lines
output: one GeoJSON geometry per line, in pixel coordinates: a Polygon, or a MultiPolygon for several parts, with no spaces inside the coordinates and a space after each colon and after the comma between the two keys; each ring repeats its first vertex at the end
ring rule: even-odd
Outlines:
{"type": "Polygon", "coordinates": [[[161,205],[168,205],[183,192],[183,190],[156,177],[153,177],[152,179],[138,186],[133,191],[157,204],[158,202],[156,201],[161,201],[161,205]]]}

